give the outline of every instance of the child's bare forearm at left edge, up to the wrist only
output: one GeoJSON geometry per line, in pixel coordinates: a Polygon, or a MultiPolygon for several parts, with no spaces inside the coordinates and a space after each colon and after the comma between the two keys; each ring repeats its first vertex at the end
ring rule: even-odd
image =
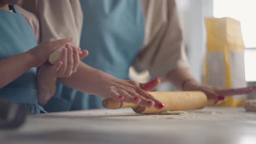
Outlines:
{"type": "Polygon", "coordinates": [[[33,58],[26,52],[0,60],[0,88],[23,75],[33,67],[33,58]]]}

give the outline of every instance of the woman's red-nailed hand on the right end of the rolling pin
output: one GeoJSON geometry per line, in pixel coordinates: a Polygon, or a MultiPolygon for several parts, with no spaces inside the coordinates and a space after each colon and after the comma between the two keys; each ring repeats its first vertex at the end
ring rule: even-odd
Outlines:
{"type": "Polygon", "coordinates": [[[202,91],[207,95],[208,104],[215,105],[218,101],[223,101],[226,96],[249,94],[256,90],[256,86],[246,88],[226,89],[221,87],[202,85],[194,81],[184,83],[184,91],[202,91]]]}

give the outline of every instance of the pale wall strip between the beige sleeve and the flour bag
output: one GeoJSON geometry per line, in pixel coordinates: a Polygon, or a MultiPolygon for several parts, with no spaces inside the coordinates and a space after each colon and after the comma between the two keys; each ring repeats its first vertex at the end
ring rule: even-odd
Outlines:
{"type": "Polygon", "coordinates": [[[203,18],[213,16],[213,0],[177,0],[184,24],[187,56],[191,72],[201,82],[201,70],[206,49],[203,18]]]}

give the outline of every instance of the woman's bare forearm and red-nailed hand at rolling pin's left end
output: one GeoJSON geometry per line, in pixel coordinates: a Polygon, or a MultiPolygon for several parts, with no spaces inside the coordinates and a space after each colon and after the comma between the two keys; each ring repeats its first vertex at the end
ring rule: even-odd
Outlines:
{"type": "Polygon", "coordinates": [[[60,82],[70,88],[92,95],[99,95],[103,98],[112,98],[116,101],[125,101],[139,104],[143,107],[163,108],[163,104],[149,95],[145,90],[153,90],[161,79],[141,84],[132,80],[121,80],[96,70],[83,62],[79,63],[77,72],[68,78],[59,78],[60,82]]]}

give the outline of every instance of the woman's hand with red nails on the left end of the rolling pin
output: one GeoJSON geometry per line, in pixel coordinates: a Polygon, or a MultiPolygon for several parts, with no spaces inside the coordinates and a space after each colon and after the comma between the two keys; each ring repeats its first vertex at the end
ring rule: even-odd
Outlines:
{"type": "Polygon", "coordinates": [[[146,91],[152,91],[161,82],[158,77],[148,83],[138,83],[133,80],[102,79],[103,98],[111,98],[115,101],[135,103],[142,107],[164,108],[164,104],[158,101],[146,91]]]}

